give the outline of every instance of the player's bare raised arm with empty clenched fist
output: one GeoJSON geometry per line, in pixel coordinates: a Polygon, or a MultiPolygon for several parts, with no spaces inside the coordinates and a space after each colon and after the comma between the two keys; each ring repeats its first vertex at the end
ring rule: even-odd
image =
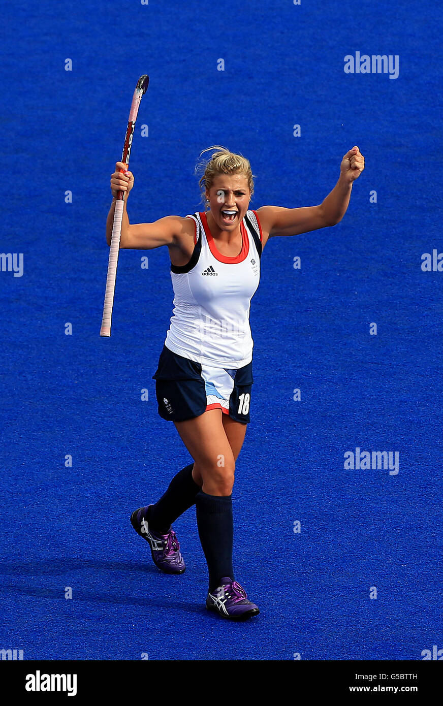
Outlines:
{"type": "Polygon", "coordinates": [[[336,225],[348,208],[353,181],[365,169],[365,157],[358,147],[354,147],[341,161],[340,177],[331,193],[318,206],[303,208],[282,208],[262,206],[257,210],[261,227],[269,237],[278,235],[298,235],[336,225]]]}

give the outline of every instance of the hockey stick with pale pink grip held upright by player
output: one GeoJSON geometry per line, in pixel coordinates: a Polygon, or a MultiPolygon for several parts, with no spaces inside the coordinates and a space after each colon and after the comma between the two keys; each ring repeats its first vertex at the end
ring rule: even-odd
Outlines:
{"type": "MultiPolygon", "coordinates": [[[[148,88],[149,76],[146,73],[138,79],[136,90],[132,97],[131,110],[129,112],[128,127],[126,128],[126,138],[124,140],[124,148],[122,154],[122,162],[129,165],[129,155],[131,154],[132,138],[134,136],[134,128],[138,107],[140,106],[141,98],[148,88]]],[[[124,172],[124,169],[120,169],[124,172]]],[[[110,245],[110,258],[107,263],[107,278],[105,289],[105,304],[103,305],[102,327],[100,328],[100,336],[111,335],[111,320],[112,306],[114,304],[115,278],[117,276],[117,261],[119,259],[120,236],[122,235],[122,218],[123,218],[123,202],[124,191],[119,191],[117,201],[115,202],[114,223],[112,225],[112,237],[110,245]]]]}

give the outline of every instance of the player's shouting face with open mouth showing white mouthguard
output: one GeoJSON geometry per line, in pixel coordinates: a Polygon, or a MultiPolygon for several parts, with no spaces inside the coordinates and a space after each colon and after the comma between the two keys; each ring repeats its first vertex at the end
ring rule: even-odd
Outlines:
{"type": "Polygon", "coordinates": [[[247,177],[244,174],[218,174],[211,189],[206,189],[206,198],[220,230],[237,229],[251,200],[247,177]]]}

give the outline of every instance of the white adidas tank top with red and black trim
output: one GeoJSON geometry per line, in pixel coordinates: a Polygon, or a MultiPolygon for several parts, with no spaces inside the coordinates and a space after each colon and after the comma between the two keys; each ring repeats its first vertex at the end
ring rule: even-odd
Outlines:
{"type": "Polygon", "coordinates": [[[195,222],[187,265],[171,265],[174,309],[165,346],[196,363],[237,369],[252,361],[249,309],[260,281],[261,227],[254,210],[240,223],[242,251],[218,252],[206,213],[195,222]]]}

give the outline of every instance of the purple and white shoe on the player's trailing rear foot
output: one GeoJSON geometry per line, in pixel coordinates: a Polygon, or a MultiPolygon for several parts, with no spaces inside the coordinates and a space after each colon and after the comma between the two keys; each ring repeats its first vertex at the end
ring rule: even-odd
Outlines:
{"type": "MultiPolygon", "coordinates": [[[[148,505],[150,508],[151,505],[148,505]]],[[[183,573],[186,570],[186,565],[180,554],[180,545],[172,527],[166,534],[154,532],[148,527],[148,520],[145,513],[147,508],[138,508],[131,515],[131,525],[136,530],[136,533],[146,539],[150,546],[150,555],[157,568],[165,573],[183,573]]]]}

